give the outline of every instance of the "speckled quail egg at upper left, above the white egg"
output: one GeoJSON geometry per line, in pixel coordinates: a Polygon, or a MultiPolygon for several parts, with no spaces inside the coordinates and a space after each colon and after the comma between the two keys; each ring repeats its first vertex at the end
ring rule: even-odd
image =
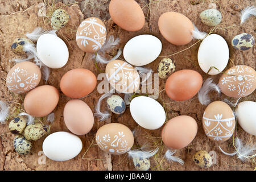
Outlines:
{"type": "Polygon", "coordinates": [[[69,20],[70,16],[67,11],[63,9],[57,9],[53,12],[51,17],[51,26],[55,30],[59,30],[64,27],[69,20]]]}

